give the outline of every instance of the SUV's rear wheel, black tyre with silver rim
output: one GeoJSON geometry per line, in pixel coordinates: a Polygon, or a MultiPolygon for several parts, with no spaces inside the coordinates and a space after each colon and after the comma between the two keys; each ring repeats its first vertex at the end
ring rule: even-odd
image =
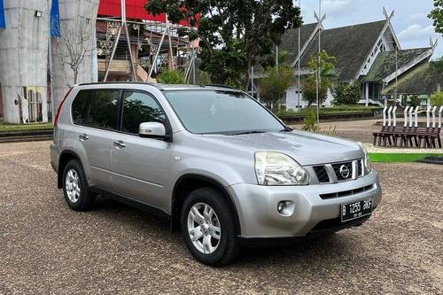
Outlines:
{"type": "Polygon", "coordinates": [[[78,159],[72,159],[66,164],[62,185],[66,203],[71,209],[88,211],[92,208],[96,196],[88,191],[88,182],[78,159]]]}

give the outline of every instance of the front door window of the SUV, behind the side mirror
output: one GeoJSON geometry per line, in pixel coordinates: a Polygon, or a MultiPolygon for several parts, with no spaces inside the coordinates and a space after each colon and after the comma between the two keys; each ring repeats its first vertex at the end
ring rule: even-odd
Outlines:
{"type": "Polygon", "coordinates": [[[123,113],[121,116],[121,130],[138,134],[140,123],[165,123],[166,116],[163,110],[149,94],[135,91],[125,91],[123,113]]]}

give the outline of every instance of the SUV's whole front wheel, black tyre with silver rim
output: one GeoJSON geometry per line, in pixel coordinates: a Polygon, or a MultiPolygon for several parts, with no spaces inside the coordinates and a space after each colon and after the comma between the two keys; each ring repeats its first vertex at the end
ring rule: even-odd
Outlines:
{"type": "Polygon", "coordinates": [[[235,216],[219,190],[205,187],[190,192],[183,202],[181,226],[186,246],[198,261],[206,265],[227,265],[240,253],[235,216]],[[206,210],[208,207],[214,213],[206,210]],[[195,214],[195,209],[200,215],[195,214]],[[190,214],[191,210],[193,213],[190,214]],[[202,222],[200,226],[199,222],[202,222]]]}

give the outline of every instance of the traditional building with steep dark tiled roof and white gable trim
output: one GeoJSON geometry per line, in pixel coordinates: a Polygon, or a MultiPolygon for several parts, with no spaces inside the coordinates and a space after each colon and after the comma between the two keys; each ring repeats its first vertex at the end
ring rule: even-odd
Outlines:
{"type": "MultiPolygon", "coordinates": [[[[317,55],[319,33],[321,33],[321,50],[326,50],[328,55],[337,59],[338,79],[335,83],[361,82],[360,103],[365,105],[384,105],[386,96],[393,95],[385,89],[392,89],[396,76],[399,81],[403,76],[413,73],[417,67],[428,64],[433,53],[433,46],[402,50],[393,30],[391,17],[329,29],[323,28],[318,23],[307,24],[300,27],[300,51],[298,28],[287,30],[279,47],[279,50],[289,51],[291,56],[295,57],[291,66],[294,66],[296,74],[300,66],[301,81],[307,74],[312,74],[307,68],[307,63],[310,58],[317,55]]],[[[434,81],[439,79],[430,82],[434,81]]],[[[428,89],[436,87],[430,85],[428,89]]],[[[287,90],[287,108],[306,105],[301,91],[300,93],[298,91],[297,82],[287,90]]],[[[397,93],[400,94],[399,91],[397,93]]],[[[324,105],[330,105],[332,99],[329,94],[324,105]]]]}

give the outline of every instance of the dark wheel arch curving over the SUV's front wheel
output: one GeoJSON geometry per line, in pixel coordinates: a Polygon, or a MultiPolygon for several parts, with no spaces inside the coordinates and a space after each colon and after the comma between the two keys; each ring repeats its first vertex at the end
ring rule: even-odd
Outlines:
{"type": "Polygon", "coordinates": [[[198,175],[198,174],[187,174],[182,175],[175,182],[174,190],[172,193],[172,202],[171,202],[171,230],[176,231],[180,229],[180,213],[183,205],[183,200],[190,194],[192,190],[197,190],[201,187],[213,187],[216,190],[219,190],[223,197],[228,201],[229,207],[234,213],[236,220],[236,234],[240,235],[240,221],[237,213],[237,206],[234,202],[234,199],[221,182],[216,179],[206,176],[206,175],[198,175]]]}

